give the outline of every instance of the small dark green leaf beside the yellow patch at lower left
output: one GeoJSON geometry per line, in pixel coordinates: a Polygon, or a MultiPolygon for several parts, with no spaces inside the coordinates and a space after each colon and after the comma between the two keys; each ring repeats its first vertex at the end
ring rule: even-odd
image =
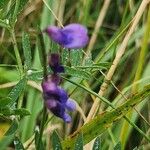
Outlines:
{"type": "Polygon", "coordinates": [[[16,120],[13,120],[10,128],[8,129],[8,131],[5,133],[5,136],[9,136],[14,134],[18,129],[18,122],[16,120]]]}

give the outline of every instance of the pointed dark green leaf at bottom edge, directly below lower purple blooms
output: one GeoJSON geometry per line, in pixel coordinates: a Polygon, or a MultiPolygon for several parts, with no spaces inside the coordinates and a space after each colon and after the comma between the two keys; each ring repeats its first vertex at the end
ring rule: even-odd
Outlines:
{"type": "Polygon", "coordinates": [[[56,131],[52,134],[52,146],[53,150],[62,150],[60,139],[56,131]]]}

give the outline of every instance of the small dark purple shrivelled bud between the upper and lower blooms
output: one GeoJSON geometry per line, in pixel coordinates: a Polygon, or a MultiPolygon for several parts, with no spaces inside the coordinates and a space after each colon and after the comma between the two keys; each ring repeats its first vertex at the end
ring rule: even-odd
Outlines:
{"type": "Polygon", "coordinates": [[[64,67],[60,65],[60,56],[57,53],[49,55],[49,66],[53,70],[54,74],[64,72],[64,67]]]}

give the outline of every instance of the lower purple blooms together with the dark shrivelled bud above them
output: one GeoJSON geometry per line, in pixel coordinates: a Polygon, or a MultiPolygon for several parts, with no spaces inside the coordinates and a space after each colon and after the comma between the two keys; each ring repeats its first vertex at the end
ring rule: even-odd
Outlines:
{"type": "Polygon", "coordinates": [[[46,107],[57,117],[62,118],[65,122],[71,122],[71,117],[66,113],[75,110],[75,103],[69,99],[67,92],[59,86],[61,77],[60,72],[64,72],[64,67],[60,65],[58,54],[51,54],[49,66],[53,74],[49,75],[42,82],[43,97],[46,107]]]}

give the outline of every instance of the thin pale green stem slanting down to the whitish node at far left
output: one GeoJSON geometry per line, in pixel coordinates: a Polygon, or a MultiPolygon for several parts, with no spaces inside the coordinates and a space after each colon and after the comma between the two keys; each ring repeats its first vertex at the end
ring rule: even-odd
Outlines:
{"type": "Polygon", "coordinates": [[[14,46],[14,51],[15,51],[15,56],[16,56],[16,59],[17,59],[17,64],[18,64],[20,76],[22,77],[22,75],[23,75],[23,66],[22,66],[22,61],[21,61],[21,57],[20,57],[20,54],[19,54],[19,49],[18,49],[16,37],[15,37],[15,32],[14,32],[14,30],[11,30],[10,33],[11,33],[11,36],[12,36],[12,42],[13,42],[13,46],[14,46]]]}

